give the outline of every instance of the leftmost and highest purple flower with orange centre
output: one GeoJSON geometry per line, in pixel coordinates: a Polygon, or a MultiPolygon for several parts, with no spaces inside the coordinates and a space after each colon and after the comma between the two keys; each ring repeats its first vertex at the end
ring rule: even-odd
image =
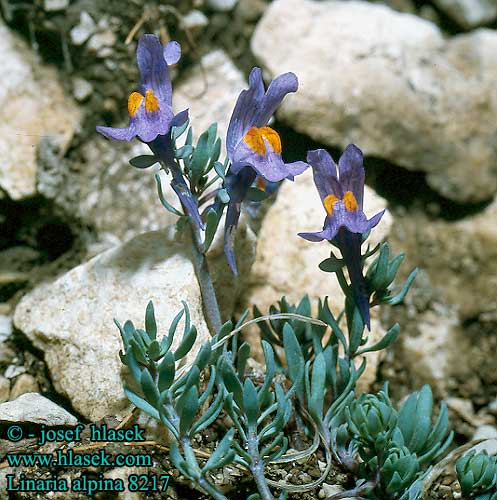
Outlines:
{"type": "Polygon", "coordinates": [[[166,135],[172,125],[180,125],[188,118],[182,111],[174,116],[172,88],[168,65],[178,62],[181,47],[178,42],[162,46],[155,35],[143,35],[136,51],[140,70],[140,86],[128,98],[129,125],[126,128],[97,127],[109,139],[131,141],[137,137],[150,143],[158,135],[166,135]]]}

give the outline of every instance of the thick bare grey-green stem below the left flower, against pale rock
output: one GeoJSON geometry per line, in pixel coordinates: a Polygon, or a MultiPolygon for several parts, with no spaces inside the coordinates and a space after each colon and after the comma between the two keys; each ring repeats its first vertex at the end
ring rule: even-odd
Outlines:
{"type": "Polygon", "coordinates": [[[190,221],[190,227],[193,239],[192,249],[195,274],[197,275],[197,279],[200,285],[200,291],[202,293],[205,318],[207,320],[211,335],[214,336],[219,332],[219,330],[221,330],[221,313],[219,312],[219,304],[217,302],[216,291],[214,290],[212,277],[209,273],[207,258],[205,256],[205,253],[203,252],[202,242],[200,241],[198,234],[196,234],[196,228],[192,221],[190,221]]]}

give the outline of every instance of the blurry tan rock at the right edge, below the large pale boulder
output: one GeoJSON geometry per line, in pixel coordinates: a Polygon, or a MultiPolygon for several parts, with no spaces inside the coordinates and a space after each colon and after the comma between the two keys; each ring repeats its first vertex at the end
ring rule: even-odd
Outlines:
{"type": "Polygon", "coordinates": [[[462,320],[497,318],[496,217],[497,199],[458,221],[431,221],[408,213],[395,222],[397,246],[406,253],[405,268],[423,268],[440,300],[455,308],[462,320]]]}

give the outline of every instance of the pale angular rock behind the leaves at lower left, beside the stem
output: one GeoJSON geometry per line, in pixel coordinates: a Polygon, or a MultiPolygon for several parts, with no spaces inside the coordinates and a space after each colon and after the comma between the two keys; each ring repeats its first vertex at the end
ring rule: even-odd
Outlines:
{"type": "MultiPolygon", "coordinates": [[[[96,421],[123,416],[128,407],[113,319],[142,326],[149,300],[160,332],[167,331],[181,301],[188,303],[198,329],[192,359],[210,335],[187,246],[174,239],[172,228],[140,235],[35,288],[18,304],[14,323],[44,351],[56,390],[96,421]]],[[[175,345],[179,341],[180,335],[175,345]]]]}

